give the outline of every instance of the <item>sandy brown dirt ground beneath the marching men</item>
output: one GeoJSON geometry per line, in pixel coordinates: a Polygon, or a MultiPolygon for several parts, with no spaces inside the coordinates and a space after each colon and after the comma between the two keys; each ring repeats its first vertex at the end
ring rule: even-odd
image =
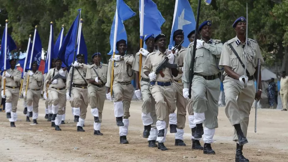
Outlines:
{"type": "MultiPolygon", "coordinates": [[[[142,137],[141,101],[132,101],[129,118],[129,144],[119,144],[113,103],[105,101],[101,132],[94,136],[90,106],[85,120],[85,132],[76,131],[76,123],[67,102],[66,124],[62,131],[55,131],[44,119],[45,101],[40,99],[38,125],[30,125],[23,115],[22,99],[18,101],[18,121],[11,128],[6,114],[0,112],[0,161],[213,161],[233,162],[236,144],[232,141],[233,129],[224,107],[219,107],[219,128],[216,128],[213,150],[216,155],[204,155],[202,150],[191,149],[191,129],[188,120],[184,129],[186,147],[174,146],[174,134],[168,130],[165,146],[161,151],[148,147],[142,137]]],[[[244,156],[251,162],[288,161],[288,112],[276,109],[259,109],[257,133],[254,133],[254,111],[250,115],[249,143],[244,146],[244,156]]],[[[203,141],[201,141],[203,146],[203,141]]]]}

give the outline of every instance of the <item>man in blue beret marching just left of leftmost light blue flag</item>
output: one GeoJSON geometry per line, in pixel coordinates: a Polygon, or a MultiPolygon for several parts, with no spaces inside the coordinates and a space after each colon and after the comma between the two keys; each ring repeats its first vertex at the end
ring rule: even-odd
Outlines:
{"type": "Polygon", "coordinates": [[[101,63],[101,53],[92,55],[94,64],[87,69],[86,80],[88,82],[88,99],[91,106],[91,114],[94,117],[94,135],[103,135],[100,132],[102,123],[102,111],[106,99],[106,82],[108,65],[101,63]]]}

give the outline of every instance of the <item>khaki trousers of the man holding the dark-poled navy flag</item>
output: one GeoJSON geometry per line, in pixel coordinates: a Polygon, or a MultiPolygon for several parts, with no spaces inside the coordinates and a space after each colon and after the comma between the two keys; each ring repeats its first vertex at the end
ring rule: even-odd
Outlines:
{"type": "Polygon", "coordinates": [[[71,107],[79,107],[80,117],[85,119],[88,107],[88,90],[84,88],[72,87],[70,104],[71,107]]]}

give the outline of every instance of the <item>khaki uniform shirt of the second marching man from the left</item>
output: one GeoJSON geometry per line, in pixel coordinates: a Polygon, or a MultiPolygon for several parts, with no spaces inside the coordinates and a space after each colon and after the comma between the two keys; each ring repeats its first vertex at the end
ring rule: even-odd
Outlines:
{"type": "MultiPolygon", "coordinates": [[[[27,85],[27,79],[28,79],[29,73],[27,72],[24,80],[23,80],[23,90],[26,89],[26,85],[27,85]]],[[[37,89],[41,89],[42,88],[42,84],[43,84],[43,74],[40,71],[36,71],[32,76],[29,76],[29,83],[28,83],[28,89],[31,90],[37,90],[37,89]]]]}

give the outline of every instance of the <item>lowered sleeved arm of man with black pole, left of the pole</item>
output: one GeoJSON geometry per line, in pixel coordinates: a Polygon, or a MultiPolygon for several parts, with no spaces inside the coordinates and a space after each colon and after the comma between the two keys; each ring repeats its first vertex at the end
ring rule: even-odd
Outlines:
{"type": "Polygon", "coordinates": [[[191,66],[192,51],[193,51],[192,47],[193,47],[192,44],[190,44],[187,49],[187,53],[185,55],[184,61],[183,61],[183,76],[182,76],[183,88],[189,88],[190,69],[191,69],[190,66],[191,66]]]}

